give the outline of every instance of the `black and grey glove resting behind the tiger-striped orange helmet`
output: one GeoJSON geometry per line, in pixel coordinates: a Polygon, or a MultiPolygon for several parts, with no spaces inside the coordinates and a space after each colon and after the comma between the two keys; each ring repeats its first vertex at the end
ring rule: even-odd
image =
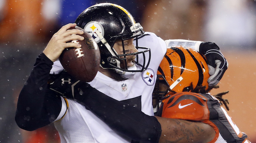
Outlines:
{"type": "Polygon", "coordinates": [[[215,43],[201,43],[199,52],[203,53],[207,60],[210,74],[208,79],[209,86],[217,85],[228,68],[228,61],[224,58],[219,47],[215,43]]]}

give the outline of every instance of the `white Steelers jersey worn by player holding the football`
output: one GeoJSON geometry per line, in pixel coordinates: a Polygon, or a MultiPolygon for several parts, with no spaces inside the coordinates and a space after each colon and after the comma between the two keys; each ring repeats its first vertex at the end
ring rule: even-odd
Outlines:
{"type": "MultiPolygon", "coordinates": [[[[166,44],[154,33],[146,32],[139,39],[139,46],[151,49],[151,61],[147,70],[138,72],[135,77],[116,81],[98,72],[89,84],[100,92],[128,104],[140,108],[142,112],[153,116],[152,92],[156,82],[158,66],[166,53],[166,44]]],[[[148,56],[148,55],[146,55],[148,56]]],[[[140,57],[139,57],[140,59],[140,57]]],[[[138,67],[139,68],[139,67],[138,67]]],[[[96,95],[95,95],[96,96],[96,95]]],[[[131,142],[96,117],[91,111],[74,100],[66,100],[68,110],[61,112],[59,117],[65,116],[54,122],[60,134],[62,143],[128,143],[131,142]]],[[[63,100],[63,104],[66,104],[63,100]]],[[[63,106],[65,107],[65,106],[63,106]]],[[[63,110],[66,110],[64,108],[63,110]]]]}

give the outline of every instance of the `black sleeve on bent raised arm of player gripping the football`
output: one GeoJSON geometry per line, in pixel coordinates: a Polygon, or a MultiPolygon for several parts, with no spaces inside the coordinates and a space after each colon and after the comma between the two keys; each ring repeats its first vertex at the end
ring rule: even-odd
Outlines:
{"type": "Polygon", "coordinates": [[[28,80],[19,94],[15,121],[25,130],[52,123],[61,111],[61,99],[47,88],[47,80],[53,62],[41,53],[28,80]]]}

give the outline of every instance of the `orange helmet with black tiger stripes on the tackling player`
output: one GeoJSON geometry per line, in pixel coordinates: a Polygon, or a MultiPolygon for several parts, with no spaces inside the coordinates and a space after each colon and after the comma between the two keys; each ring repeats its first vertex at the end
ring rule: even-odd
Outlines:
{"type": "Polygon", "coordinates": [[[167,48],[157,74],[160,80],[165,80],[170,89],[175,92],[189,92],[200,85],[205,86],[205,90],[208,89],[207,80],[210,75],[206,58],[194,49],[167,48]],[[191,89],[191,83],[193,89],[191,89]]]}

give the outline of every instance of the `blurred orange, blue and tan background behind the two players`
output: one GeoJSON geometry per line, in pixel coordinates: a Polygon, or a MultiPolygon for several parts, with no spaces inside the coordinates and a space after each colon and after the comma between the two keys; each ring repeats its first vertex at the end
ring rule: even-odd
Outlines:
{"type": "Polygon", "coordinates": [[[53,34],[87,7],[100,2],[122,5],[162,39],[215,42],[229,67],[217,94],[229,90],[232,117],[256,142],[255,0],[0,0],[0,142],[58,143],[53,125],[25,131],[14,121],[18,95],[36,57],[53,34]]]}

